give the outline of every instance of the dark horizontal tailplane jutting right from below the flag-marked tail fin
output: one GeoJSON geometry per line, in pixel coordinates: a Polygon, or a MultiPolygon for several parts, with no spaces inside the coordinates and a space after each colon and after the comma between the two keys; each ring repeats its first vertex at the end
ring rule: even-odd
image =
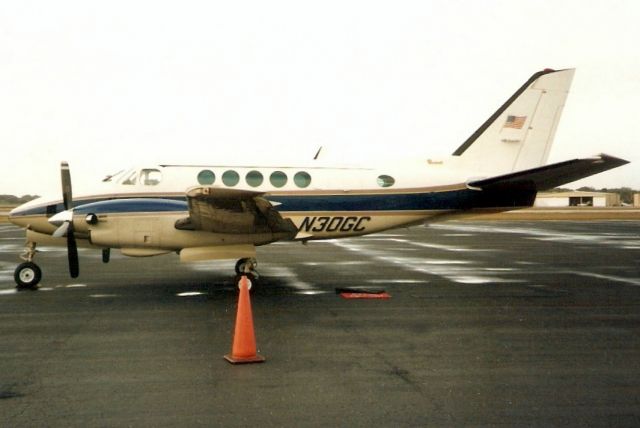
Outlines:
{"type": "Polygon", "coordinates": [[[572,159],[497,177],[471,181],[467,183],[467,186],[478,190],[529,188],[543,191],[617,168],[627,163],[629,161],[601,154],[591,158],[572,159]]]}

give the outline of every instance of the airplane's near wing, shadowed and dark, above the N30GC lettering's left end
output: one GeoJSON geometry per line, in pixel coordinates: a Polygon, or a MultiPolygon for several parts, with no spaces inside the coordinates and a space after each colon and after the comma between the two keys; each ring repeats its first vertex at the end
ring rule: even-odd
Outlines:
{"type": "Polygon", "coordinates": [[[250,190],[195,187],[187,191],[189,217],[176,222],[181,230],[253,234],[279,234],[293,238],[293,222],[283,218],[264,193],[250,190]]]}

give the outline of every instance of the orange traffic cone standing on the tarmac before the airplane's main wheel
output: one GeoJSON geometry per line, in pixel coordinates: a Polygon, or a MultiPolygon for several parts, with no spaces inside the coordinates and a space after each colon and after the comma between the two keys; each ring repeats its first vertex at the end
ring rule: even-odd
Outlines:
{"type": "Polygon", "coordinates": [[[236,327],[233,334],[233,348],[231,354],[225,355],[225,360],[231,364],[261,363],[262,355],[256,351],[256,336],[253,332],[253,315],[251,313],[251,299],[249,287],[251,282],[246,275],[242,275],[238,287],[238,312],[236,313],[236,327]]]}

